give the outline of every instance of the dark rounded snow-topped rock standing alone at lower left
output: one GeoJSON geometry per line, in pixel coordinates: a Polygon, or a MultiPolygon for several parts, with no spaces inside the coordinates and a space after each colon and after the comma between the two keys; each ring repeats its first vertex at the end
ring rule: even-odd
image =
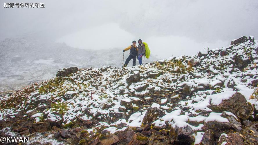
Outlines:
{"type": "Polygon", "coordinates": [[[53,126],[61,127],[61,124],[63,123],[64,119],[61,114],[53,111],[48,114],[47,121],[50,123],[51,127],[53,126]]]}

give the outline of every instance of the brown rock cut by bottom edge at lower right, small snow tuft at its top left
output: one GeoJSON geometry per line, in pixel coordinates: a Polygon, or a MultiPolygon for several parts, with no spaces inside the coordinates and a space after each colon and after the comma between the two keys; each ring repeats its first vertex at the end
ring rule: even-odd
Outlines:
{"type": "Polygon", "coordinates": [[[244,144],[243,138],[241,137],[241,135],[239,135],[238,132],[229,133],[228,137],[222,135],[219,139],[218,144],[222,144],[223,142],[227,142],[228,145],[244,144]]]}

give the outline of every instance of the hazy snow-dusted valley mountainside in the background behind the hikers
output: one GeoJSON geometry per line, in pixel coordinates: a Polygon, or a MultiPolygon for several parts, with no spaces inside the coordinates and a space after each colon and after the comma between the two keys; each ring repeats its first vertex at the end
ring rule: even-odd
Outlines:
{"type": "MultiPolygon", "coordinates": [[[[121,68],[123,57],[122,48],[84,50],[23,37],[0,41],[0,50],[0,92],[14,91],[33,82],[50,79],[60,68],[109,65],[121,68]]],[[[125,59],[128,54],[125,52],[125,59]]],[[[151,56],[143,62],[156,60],[151,56]]]]}

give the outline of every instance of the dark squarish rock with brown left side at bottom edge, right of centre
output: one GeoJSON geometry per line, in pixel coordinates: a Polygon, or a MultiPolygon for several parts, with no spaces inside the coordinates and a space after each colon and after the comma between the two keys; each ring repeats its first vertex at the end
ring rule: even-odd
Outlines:
{"type": "Polygon", "coordinates": [[[193,131],[190,126],[185,127],[171,127],[169,138],[172,144],[193,144],[195,141],[195,137],[193,134],[196,131],[193,131]]]}

